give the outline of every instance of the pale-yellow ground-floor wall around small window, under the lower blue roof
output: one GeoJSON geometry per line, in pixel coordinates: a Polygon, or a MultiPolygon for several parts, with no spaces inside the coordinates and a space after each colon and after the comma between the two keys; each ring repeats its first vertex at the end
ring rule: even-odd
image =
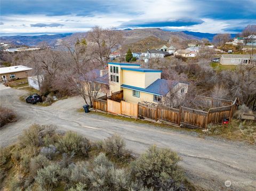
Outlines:
{"type": "Polygon", "coordinates": [[[157,103],[153,101],[153,94],[147,94],[140,92],[140,97],[134,97],[132,95],[132,90],[131,89],[126,89],[123,88],[124,91],[124,100],[126,102],[131,102],[131,103],[139,103],[139,102],[151,102],[151,103],[157,103]]]}

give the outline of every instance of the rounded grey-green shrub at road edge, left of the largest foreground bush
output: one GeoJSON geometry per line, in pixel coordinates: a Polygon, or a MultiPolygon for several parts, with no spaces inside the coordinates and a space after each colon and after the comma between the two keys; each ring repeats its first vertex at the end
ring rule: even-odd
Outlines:
{"type": "Polygon", "coordinates": [[[103,150],[105,150],[107,154],[118,158],[124,156],[127,153],[124,139],[117,134],[114,134],[113,136],[105,139],[105,142],[103,143],[103,150]]]}

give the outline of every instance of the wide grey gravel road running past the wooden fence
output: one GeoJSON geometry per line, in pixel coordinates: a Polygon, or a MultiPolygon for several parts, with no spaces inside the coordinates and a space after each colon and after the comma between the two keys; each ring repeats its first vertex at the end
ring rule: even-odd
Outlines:
{"type": "Polygon", "coordinates": [[[104,139],[116,132],[124,137],[127,148],[134,153],[139,154],[153,144],[178,152],[183,159],[180,165],[189,179],[207,190],[256,190],[255,146],[214,138],[206,140],[149,124],[78,113],[76,110],[83,105],[80,97],[63,99],[48,107],[26,104],[19,101],[19,96],[25,93],[13,88],[0,90],[1,105],[18,114],[17,122],[0,130],[1,146],[13,143],[22,130],[33,123],[56,124],[60,130],[76,131],[92,140],[104,139]],[[226,180],[233,185],[226,187],[226,180]]]}

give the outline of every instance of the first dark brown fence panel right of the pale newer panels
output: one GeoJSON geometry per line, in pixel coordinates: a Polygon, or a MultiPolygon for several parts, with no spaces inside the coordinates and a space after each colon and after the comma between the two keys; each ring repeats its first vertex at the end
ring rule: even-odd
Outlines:
{"type": "Polygon", "coordinates": [[[157,121],[157,106],[138,103],[138,115],[157,121]]]}

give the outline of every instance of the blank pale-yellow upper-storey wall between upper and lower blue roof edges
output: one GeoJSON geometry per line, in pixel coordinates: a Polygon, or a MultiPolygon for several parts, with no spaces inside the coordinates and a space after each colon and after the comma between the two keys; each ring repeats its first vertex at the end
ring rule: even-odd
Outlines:
{"type": "Polygon", "coordinates": [[[123,84],[145,88],[145,73],[123,70],[123,84]]]}

